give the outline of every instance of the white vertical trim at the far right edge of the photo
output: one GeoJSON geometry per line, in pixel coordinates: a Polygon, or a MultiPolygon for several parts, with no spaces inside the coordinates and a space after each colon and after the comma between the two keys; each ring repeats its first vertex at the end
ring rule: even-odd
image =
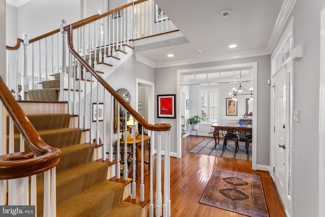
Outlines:
{"type": "Polygon", "coordinates": [[[320,12],[320,75],[319,75],[319,199],[318,216],[325,216],[325,8],[320,12]]]}

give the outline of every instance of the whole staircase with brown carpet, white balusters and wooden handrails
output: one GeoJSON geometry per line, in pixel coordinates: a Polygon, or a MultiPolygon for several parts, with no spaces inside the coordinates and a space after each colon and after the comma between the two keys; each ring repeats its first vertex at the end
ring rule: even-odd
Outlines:
{"type": "MultiPolygon", "coordinates": [[[[148,38],[152,36],[146,33],[163,34],[158,30],[149,29],[167,29],[163,28],[163,23],[170,23],[170,21],[161,20],[158,28],[158,23],[153,22],[152,17],[148,16],[148,14],[153,15],[152,11],[140,12],[136,15],[136,11],[139,10],[135,8],[144,7],[152,10],[153,4],[152,0],[140,0],[105,14],[93,15],[71,25],[67,25],[66,21],[62,20],[59,29],[29,41],[24,35],[23,40],[17,39],[14,47],[7,46],[8,51],[16,53],[15,58],[8,57],[10,60],[7,61],[7,79],[9,80],[9,75],[15,75],[17,77],[15,80],[18,81],[20,76],[21,82],[19,84],[9,80],[5,84],[0,77],[0,100],[2,101],[0,140],[3,144],[0,148],[0,205],[37,205],[37,216],[46,217],[146,216],[146,208],[141,207],[143,204],[146,206],[148,200],[144,195],[148,195],[145,191],[150,189],[148,205],[150,216],[153,216],[154,212],[156,216],[161,216],[163,207],[164,216],[170,216],[169,131],[171,126],[165,123],[153,125],[145,121],[107,82],[108,76],[132,56],[131,46],[134,40],[143,36],[148,38]],[[114,19],[118,13],[122,14],[121,17],[114,19]],[[147,14],[145,17],[148,21],[145,22],[147,24],[138,26],[134,22],[140,20],[142,14],[147,14]],[[100,28],[101,25],[103,29],[100,28]],[[62,44],[59,39],[62,39],[62,44]],[[17,52],[20,44],[24,46],[24,51],[28,47],[32,54],[29,53],[30,56],[27,56],[27,52],[17,52]],[[57,51],[53,52],[53,50],[57,51]],[[22,56],[17,57],[22,53],[22,56]],[[13,71],[14,68],[10,67],[12,65],[10,61],[17,58],[23,59],[22,71],[19,69],[13,71]],[[51,59],[51,67],[47,65],[49,59],[51,59]],[[27,61],[30,61],[29,68],[27,68],[27,61]],[[34,89],[41,86],[41,83],[43,89],[34,89]],[[8,88],[12,89],[12,92],[8,88]],[[27,92],[29,100],[58,101],[58,104],[64,104],[64,109],[53,108],[52,104],[44,104],[44,102],[37,103],[40,105],[37,108],[27,106],[21,109],[14,97],[22,98],[25,104],[33,104],[34,102],[27,101],[27,92]],[[104,112],[107,117],[103,118],[101,124],[98,117],[95,120],[93,117],[93,104],[98,105],[99,102],[105,105],[104,109],[107,109],[104,112]],[[114,119],[120,119],[119,112],[114,112],[115,104],[116,108],[125,109],[125,112],[142,125],[142,132],[147,129],[151,133],[152,145],[157,149],[157,160],[153,161],[154,149],[151,149],[152,164],[149,172],[150,177],[153,177],[153,171],[156,171],[156,183],[153,183],[152,178],[144,181],[143,169],[141,175],[136,177],[135,158],[133,158],[132,184],[126,177],[126,171],[123,173],[124,177],[120,177],[120,166],[127,164],[127,159],[126,154],[125,159],[119,159],[119,142],[117,142],[115,169],[106,163],[109,161],[112,164],[112,144],[120,138],[121,133],[120,131],[113,133],[114,119]],[[41,111],[41,107],[47,109],[46,112],[41,111]],[[10,118],[7,117],[8,114],[10,118]],[[77,117],[78,120],[72,120],[72,117],[77,117]],[[83,134],[85,129],[89,130],[86,139],[83,134]],[[93,156],[96,156],[94,151],[98,153],[98,150],[89,144],[95,138],[98,145],[100,135],[104,137],[101,161],[105,163],[94,161],[93,156]],[[106,135],[110,138],[106,139],[106,135]],[[165,138],[164,142],[161,142],[161,138],[165,138]],[[106,160],[106,145],[109,153],[108,160],[106,160]],[[161,149],[165,150],[164,160],[161,158],[161,149]],[[164,178],[161,177],[162,162],[165,164],[164,178]],[[153,164],[156,169],[153,169],[153,164]],[[109,181],[107,179],[111,178],[111,174],[116,174],[116,177],[109,181]],[[121,184],[123,180],[128,183],[128,187],[121,184]],[[162,183],[162,180],[165,182],[162,183]],[[136,193],[138,183],[141,206],[132,204],[135,199],[138,200],[136,193]],[[146,185],[148,188],[145,188],[144,183],[149,183],[146,185]],[[163,184],[164,194],[161,192],[163,184]],[[131,190],[125,191],[126,188],[131,189],[131,185],[132,198],[129,197],[131,190]],[[154,190],[156,190],[155,198],[153,198],[154,190]],[[8,200],[5,197],[7,194],[8,200]],[[22,194],[23,197],[20,196],[22,194]],[[127,201],[131,203],[123,200],[126,198],[125,195],[127,201]]],[[[124,129],[127,129],[126,121],[124,124],[124,129]]],[[[124,148],[126,149],[126,144],[124,148]]],[[[143,152],[141,150],[141,153],[143,152]]],[[[135,152],[133,154],[135,156],[135,152]]],[[[144,159],[140,162],[143,168],[144,159]]]]}

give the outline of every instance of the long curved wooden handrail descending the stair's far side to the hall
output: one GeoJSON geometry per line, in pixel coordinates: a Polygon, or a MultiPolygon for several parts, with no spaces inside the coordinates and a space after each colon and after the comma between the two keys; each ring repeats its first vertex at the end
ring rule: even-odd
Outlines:
{"type": "Polygon", "coordinates": [[[130,113],[133,117],[139,121],[139,123],[148,130],[151,131],[169,131],[171,125],[168,123],[159,123],[157,125],[151,125],[148,123],[136,110],[134,110],[114,89],[111,87],[105,79],[103,79],[75,50],[73,46],[73,26],[68,25],[68,44],[71,53],[86,67],[86,69],[97,79],[105,89],[130,113]]]}

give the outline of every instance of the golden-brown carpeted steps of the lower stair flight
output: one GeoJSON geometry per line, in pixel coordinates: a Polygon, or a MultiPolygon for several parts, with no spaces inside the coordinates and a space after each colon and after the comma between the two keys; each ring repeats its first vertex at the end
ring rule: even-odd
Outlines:
{"type": "MultiPolygon", "coordinates": [[[[41,138],[61,150],[56,167],[57,216],[141,216],[142,207],[123,202],[124,185],[107,180],[108,164],[93,161],[94,146],[80,144],[82,132],[69,128],[70,114],[27,116],[41,138]]],[[[9,150],[9,124],[7,132],[9,150]]],[[[16,127],[14,132],[15,147],[19,147],[20,133],[16,127]]],[[[30,151],[26,144],[25,151],[30,151]]],[[[37,175],[37,216],[44,214],[43,192],[41,173],[37,175]]]]}

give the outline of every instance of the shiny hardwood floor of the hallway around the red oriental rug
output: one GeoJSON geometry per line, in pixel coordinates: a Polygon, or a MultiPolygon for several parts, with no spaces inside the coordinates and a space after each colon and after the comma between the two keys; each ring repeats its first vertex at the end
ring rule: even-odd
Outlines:
{"type": "MultiPolygon", "coordinates": [[[[261,175],[270,217],[285,216],[269,172],[252,170],[250,161],[187,152],[204,138],[206,137],[182,138],[182,158],[171,158],[171,216],[245,216],[199,203],[214,168],[261,175]]],[[[145,176],[148,175],[145,166],[145,176]]],[[[145,186],[148,185],[145,181],[145,186]]],[[[139,192],[140,187],[137,187],[137,193],[139,192]]],[[[146,191],[145,197],[149,198],[149,191],[146,191]]]]}

